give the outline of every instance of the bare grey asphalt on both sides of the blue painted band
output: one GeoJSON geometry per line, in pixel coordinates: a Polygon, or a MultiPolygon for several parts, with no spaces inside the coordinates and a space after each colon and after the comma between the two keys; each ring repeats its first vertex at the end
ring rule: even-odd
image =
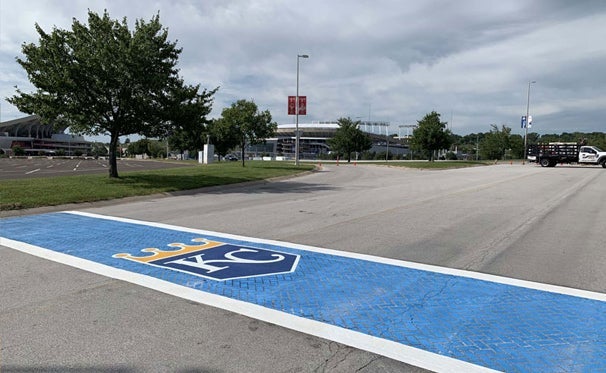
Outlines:
{"type": "MultiPolygon", "coordinates": [[[[330,165],[83,211],[606,293],[605,183],[597,167],[330,165]]],[[[422,371],[12,249],[0,257],[3,372],[422,371]]]]}

